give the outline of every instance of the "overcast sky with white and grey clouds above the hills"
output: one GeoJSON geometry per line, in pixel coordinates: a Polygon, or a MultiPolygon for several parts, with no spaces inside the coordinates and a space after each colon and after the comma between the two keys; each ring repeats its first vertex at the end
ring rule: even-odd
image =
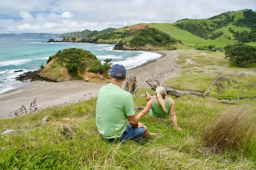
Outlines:
{"type": "Polygon", "coordinates": [[[256,0],[0,0],[0,34],[101,31],[243,9],[255,11],[256,0]]]}

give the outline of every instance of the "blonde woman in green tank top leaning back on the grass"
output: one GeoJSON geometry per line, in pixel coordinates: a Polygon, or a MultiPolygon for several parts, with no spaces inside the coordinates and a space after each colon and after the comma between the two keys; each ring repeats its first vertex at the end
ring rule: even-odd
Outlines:
{"type": "Polygon", "coordinates": [[[137,119],[141,119],[149,111],[149,116],[167,116],[169,115],[176,129],[182,130],[178,127],[176,114],[174,112],[174,100],[167,97],[166,90],[163,86],[156,88],[156,96],[150,96],[146,92],[146,107],[137,115],[137,119]]]}

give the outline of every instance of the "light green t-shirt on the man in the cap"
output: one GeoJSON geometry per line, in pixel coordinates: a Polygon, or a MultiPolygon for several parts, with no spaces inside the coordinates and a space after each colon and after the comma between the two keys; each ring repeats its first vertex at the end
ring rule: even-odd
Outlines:
{"type": "Polygon", "coordinates": [[[131,93],[109,83],[101,87],[96,104],[96,124],[103,138],[119,138],[127,117],[135,114],[131,93]]]}

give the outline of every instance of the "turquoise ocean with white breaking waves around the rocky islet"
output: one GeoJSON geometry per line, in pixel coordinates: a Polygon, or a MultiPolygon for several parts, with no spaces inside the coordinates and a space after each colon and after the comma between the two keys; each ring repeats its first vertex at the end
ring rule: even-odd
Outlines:
{"type": "Polygon", "coordinates": [[[151,52],[112,50],[113,44],[43,43],[51,38],[61,40],[57,37],[38,36],[0,37],[0,93],[30,83],[17,81],[15,78],[25,72],[39,70],[41,65],[46,65],[49,56],[71,47],[90,51],[102,63],[105,59],[112,59],[111,63],[122,64],[127,69],[161,57],[160,54],[151,52]],[[15,72],[19,70],[23,72],[15,72]]]}

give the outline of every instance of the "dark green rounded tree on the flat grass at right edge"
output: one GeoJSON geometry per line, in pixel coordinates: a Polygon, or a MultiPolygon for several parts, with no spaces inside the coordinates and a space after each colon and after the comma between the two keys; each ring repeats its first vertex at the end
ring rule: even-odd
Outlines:
{"type": "Polygon", "coordinates": [[[225,46],[225,55],[230,61],[248,65],[256,63],[256,47],[246,44],[235,44],[225,46]]]}

